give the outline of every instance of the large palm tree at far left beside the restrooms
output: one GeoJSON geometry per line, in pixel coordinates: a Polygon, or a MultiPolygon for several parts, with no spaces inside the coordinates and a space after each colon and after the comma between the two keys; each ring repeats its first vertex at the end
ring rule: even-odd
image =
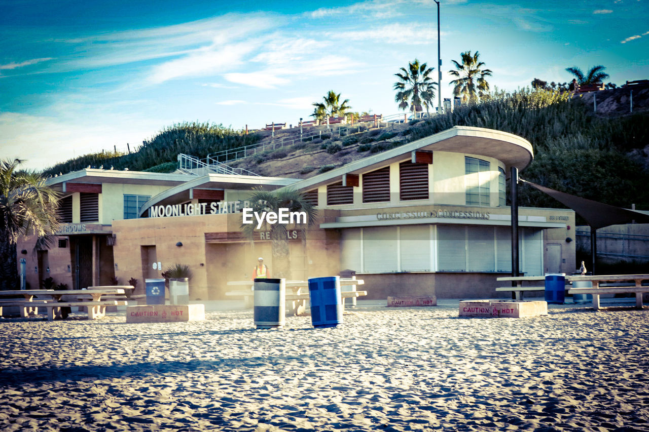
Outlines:
{"type": "Polygon", "coordinates": [[[19,237],[35,234],[36,248],[50,246],[58,230],[58,192],[45,186],[45,178],[17,171],[23,160],[0,162],[0,289],[18,287],[16,244],[19,237]]]}

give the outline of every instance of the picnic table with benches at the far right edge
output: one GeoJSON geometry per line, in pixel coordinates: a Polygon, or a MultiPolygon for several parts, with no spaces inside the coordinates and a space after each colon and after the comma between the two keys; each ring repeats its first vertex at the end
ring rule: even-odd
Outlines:
{"type": "Polygon", "coordinates": [[[593,309],[600,309],[600,295],[602,294],[635,294],[635,308],[643,308],[643,294],[649,293],[649,286],[644,281],[649,281],[649,274],[607,274],[594,276],[570,276],[570,282],[588,281],[593,283],[591,288],[571,288],[569,294],[591,294],[593,296],[593,309]],[[603,286],[606,283],[618,285],[623,281],[633,281],[627,286],[603,286]]]}

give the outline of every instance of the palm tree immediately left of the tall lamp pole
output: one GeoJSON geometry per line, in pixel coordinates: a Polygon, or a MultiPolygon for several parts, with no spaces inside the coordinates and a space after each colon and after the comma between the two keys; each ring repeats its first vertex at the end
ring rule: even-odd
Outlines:
{"type": "Polygon", "coordinates": [[[395,102],[399,102],[400,109],[408,108],[410,102],[410,111],[413,114],[422,112],[422,106],[426,107],[428,113],[428,106],[433,104],[435,86],[437,85],[430,77],[433,69],[434,67],[426,68],[425,63],[419,64],[419,60],[415,58],[414,62],[408,63],[408,69],[401,67],[401,72],[395,73],[399,78],[394,86],[394,90],[397,90],[395,102]]]}

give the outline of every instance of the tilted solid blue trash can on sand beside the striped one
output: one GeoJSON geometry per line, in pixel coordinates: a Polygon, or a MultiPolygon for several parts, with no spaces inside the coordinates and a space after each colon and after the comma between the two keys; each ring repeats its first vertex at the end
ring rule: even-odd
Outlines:
{"type": "Polygon", "coordinates": [[[313,327],[336,327],[343,323],[343,302],[338,276],[310,278],[309,301],[313,327]]]}

